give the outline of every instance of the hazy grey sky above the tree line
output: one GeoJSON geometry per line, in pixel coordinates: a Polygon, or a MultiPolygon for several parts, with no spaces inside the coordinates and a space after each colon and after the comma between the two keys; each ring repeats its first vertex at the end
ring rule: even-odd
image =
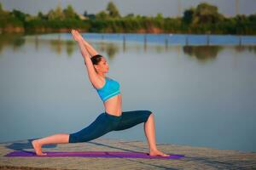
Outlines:
{"type": "MultiPolygon", "coordinates": [[[[121,15],[143,14],[155,16],[158,13],[164,16],[177,16],[179,7],[181,14],[185,8],[196,6],[198,3],[207,2],[218,6],[218,11],[226,16],[236,14],[236,1],[238,2],[240,14],[256,14],[256,0],[113,0],[113,3],[119,8],[121,15]]],[[[55,8],[61,3],[62,8],[67,4],[72,4],[73,8],[79,14],[96,14],[106,9],[108,0],[0,0],[3,8],[7,10],[19,9],[28,14],[38,14],[38,11],[44,14],[49,9],[55,8]]]]}

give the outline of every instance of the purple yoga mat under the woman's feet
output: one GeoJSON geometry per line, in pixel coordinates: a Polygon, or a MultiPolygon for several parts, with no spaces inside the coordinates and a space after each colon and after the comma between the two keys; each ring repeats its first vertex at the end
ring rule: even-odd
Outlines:
{"type": "Polygon", "coordinates": [[[144,159],[180,159],[184,155],[171,156],[148,156],[147,153],[143,152],[124,152],[124,151],[45,151],[46,156],[37,156],[32,151],[13,151],[5,156],[26,156],[26,157],[63,157],[63,156],[79,156],[79,157],[105,157],[105,158],[144,158],[144,159]]]}

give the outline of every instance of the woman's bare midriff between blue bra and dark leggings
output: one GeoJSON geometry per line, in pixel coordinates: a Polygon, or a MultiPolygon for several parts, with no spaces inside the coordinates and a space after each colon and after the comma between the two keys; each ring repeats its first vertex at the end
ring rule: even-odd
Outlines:
{"type": "Polygon", "coordinates": [[[114,116],[122,114],[122,97],[121,94],[115,95],[104,102],[105,111],[114,116]]]}

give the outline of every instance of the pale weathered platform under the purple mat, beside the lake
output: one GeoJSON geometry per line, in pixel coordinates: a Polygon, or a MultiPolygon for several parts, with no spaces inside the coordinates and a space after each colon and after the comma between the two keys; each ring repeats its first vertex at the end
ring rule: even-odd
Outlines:
{"type": "MultiPolygon", "coordinates": [[[[32,149],[31,139],[0,144],[0,169],[256,169],[256,153],[216,150],[178,144],[157,144],[168,154],[185,155],[178,160],[86,157],[6,157],[15,150],[32,149]]],[[[48,144],[44,151],[143,151],[142,141],[99,138],[86,143],[48,144]]]]}

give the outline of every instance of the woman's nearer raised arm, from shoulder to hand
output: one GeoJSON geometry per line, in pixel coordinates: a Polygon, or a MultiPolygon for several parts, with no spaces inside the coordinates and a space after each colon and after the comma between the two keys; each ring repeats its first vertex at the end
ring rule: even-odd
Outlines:
{"type": "Polygon", "coordinates": [[[79,43],[80,52],[84,57],[84,64],[86,65],[90,82],[96,88],[102,87],[102,83],[104,82],[102,82],[102,80],[98,77],[95,71],[95,68],[92,64],[92,61],[90,59],[90,54],[88,53],[87,49],[84,46],[83,40],[78,35],[76,35],[73,31],[72,31],[72,34],[73,34],[73,38],[79,43]]]}

